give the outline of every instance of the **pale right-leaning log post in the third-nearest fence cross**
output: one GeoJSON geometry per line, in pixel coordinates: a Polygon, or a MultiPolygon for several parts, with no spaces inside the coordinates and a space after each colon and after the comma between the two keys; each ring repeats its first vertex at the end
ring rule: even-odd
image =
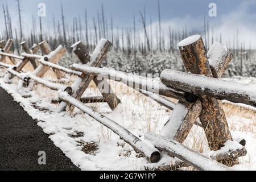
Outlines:
{"type": "MultiPolygon", "coordinates": [[[[59,61],[60,57],[62,57],[66,52],[66,49],[63,48],[63,46],[59,46],[56,48],[55,51],[49,53],[49,55],[45,56],[49,60],[49,62],[56,64],[57,61],[59,61]]],[[[43,58],[42,58],[43,59],[43,58]]],[[[39,65],[38,68],[34,71],[34,75],[37,77],[42,77],[44,73],[48,71],[50,67],[47,67],[46,65],[39,65]]]]}

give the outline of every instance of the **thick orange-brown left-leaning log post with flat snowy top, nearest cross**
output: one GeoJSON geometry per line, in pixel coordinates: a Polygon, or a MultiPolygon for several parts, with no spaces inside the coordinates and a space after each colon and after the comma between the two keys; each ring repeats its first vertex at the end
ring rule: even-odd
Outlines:
{"type": "MultiPolygon", "coordinates": [[[[187,72],[213,77],[200,35],[184,39],[179,43],[179,48],[187,72]]],[[[202,96],[200,100],[200,121],[207,135],[210,150],[218,150],[227,140],[232,140],[221,101],[209,96],[202,96]]]]}

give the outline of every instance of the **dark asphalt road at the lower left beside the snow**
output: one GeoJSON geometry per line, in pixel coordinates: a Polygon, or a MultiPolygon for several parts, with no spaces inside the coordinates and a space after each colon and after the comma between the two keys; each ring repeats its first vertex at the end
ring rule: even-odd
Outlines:
{"type": "Polygon", "coordinates": [[[0,87],[0,170],[80,170],[48,137],[0,87]],[[40,151],[46,154],[46,165],[38,163],[40,151]]]}

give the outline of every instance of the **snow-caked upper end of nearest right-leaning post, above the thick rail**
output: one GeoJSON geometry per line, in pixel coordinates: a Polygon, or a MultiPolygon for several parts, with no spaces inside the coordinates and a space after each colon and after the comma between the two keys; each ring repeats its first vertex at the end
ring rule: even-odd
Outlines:
{"type": "Polygon", "coordinates": [[[214,78],[220,78],[226,69],[228,69],[228,65],[233,59],[233,55],[228,51],[228,48],[217,42],[212,44],[207,56],[214,78]]]}

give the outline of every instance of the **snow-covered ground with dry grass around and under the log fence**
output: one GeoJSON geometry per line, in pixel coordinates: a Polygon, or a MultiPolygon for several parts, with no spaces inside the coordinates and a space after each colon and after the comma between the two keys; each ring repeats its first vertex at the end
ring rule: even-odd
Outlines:
{"type": "MultiPolygon", "coordinates": [[[[16,102],[31,115],[49,138],[59,147],[72,162],[83,170],[140,170],[144,169],[147,160],[137,154],[133,148],[119,139],[117,135],[102,126],[93,118],[76,109],[74,113],[56,113],[58,92],[35,86],[33,91],[20,89],[18,78],[13,84],[5,84],[3,76],[6,69],[0,68],[0,86],[7,90],[16,102]],[[27,91],[27,92],[25,92],[27,91]]],[[[47,75],[52,75],[48,73],[47,75]]],[[[52,79],[52,78],[51,78],[52,79]]],[[[256,78],[225,78],[255,84],[256,78]]],[[[69,84],[75,80],[71,77],[69,84]]],[[[159,133],[166,123],[171,111],[160,106],[150,98],[127,88],[118,82],[110,82],[117,91],[122,104],[112,111],[107,104],[89,104],[93,109],[100,111],[115,122],[129,129],[143,139],[146,131],[159,133]]],[[[84,96],[99,96],[96,87],[91,84],[84,96]]],[[[232,136],[235,140],[245,139],[247,155],[240,158],[240,164],[233,169],[256,170],[256,111],[243,105],[224,103],[224,110],[232,136]]],[[[207,153],[208,144],[203,130],[193,126],[185,146],[200,152],[207,153]]],[[[167,160],[163,156],[159,163],[167,160]]]]}

